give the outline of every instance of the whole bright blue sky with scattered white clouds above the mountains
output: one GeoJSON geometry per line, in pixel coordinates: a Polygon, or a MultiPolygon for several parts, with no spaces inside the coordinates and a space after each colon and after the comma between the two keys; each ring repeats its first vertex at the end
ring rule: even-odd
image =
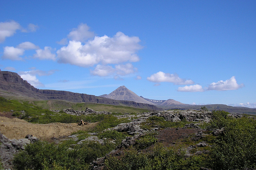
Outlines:
{"type": "Polygon", "coordinates": [[[255,0],[0,6],[0,69],[36,88],[256,107],[255,0]]]}

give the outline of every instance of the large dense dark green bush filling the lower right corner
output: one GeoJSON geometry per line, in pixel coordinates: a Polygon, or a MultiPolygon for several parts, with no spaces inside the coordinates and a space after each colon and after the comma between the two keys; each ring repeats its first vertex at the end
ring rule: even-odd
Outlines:
{"type": "Polygon", "coordinates": [[[212,151],[216,169],[256,168],[256,119],[227,117],[221,126],[224,134],[212,151]]]}

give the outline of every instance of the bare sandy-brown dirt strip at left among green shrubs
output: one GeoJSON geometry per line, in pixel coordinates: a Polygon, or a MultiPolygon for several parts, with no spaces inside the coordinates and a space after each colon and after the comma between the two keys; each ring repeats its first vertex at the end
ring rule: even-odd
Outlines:
{"type": "Polygon", "coordinates": [[[88,123],[85,126],[77,126],[77,123],[34,124],[18,118],[0,116],[0,133],[8,139],[24,139],[29,134],[50,141],[53,137],[69,136],[72,132],[89,130],[95,126],[96,123],[88,123]]]}

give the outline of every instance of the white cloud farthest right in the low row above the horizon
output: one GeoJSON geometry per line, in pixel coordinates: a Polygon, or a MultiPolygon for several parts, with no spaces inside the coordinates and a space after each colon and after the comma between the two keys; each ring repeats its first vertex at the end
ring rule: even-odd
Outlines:
{"type": "Polygon", "coordinates": [[[235,76],[232,76],[230,79],[226,81],[220,80],[216,83],[213,82],[208,86],[208,90],[237,90],[238,88],[242,87],[244,87],[244,84],[238,85],[235,76]]]}

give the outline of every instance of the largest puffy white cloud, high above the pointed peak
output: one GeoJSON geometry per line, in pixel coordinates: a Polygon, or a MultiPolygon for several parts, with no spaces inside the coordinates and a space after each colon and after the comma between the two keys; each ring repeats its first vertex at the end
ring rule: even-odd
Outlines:
{"type": "Polygon", "coordinates": [[[77,66],[93,66],[94,64],[120,64],[137,62],[136,52],[142,49],[138,37],[129,37],[122,32],[114,37],[94,37],[82,45],[80,41],[69,41],[68,46],[57,51],[59,63],[70,63],[77,66]]]}

